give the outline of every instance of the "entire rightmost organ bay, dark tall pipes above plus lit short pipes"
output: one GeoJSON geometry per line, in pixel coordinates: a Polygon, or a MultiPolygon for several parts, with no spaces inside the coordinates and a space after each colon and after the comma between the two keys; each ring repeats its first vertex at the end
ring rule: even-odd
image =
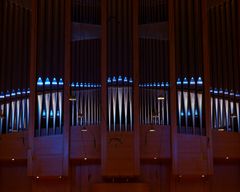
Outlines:
{"type": "Polygon", "coordinates": [[[211,126],[239,132],[238,1],[223,1],[209,8],[211,52],[211,126]]]}

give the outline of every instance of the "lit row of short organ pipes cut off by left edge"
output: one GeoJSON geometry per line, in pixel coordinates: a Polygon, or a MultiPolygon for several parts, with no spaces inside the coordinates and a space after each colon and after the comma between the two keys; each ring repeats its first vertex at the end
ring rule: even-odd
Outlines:
{"type": "Polygon", "coordinates": [[[19,132],[28,128],[30,90],[0,94],[0,134],[19,132]]]}

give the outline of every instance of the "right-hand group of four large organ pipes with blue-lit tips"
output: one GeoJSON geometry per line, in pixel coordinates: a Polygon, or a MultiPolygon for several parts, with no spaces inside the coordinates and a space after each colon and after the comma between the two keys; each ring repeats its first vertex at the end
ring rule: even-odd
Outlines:
{"type": "Polygon", "coordinates": [[[193,77],[177,80],[178,132],[205,135],[203,127],[203,81],[193,77]]]}

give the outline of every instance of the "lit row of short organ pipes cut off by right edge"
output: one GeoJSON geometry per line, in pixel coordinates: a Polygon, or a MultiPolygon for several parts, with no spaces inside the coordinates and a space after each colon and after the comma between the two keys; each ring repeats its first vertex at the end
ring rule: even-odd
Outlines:
{"type": "Polygon", "coordinates": [[[240,132],[240,94],[217,88],[211,89],[210,93],[211,127],[219,131],[240,132]]]}

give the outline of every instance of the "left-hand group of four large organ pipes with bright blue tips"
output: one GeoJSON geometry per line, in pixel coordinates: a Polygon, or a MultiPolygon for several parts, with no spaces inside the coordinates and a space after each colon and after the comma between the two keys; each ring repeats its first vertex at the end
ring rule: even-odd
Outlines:
{"type": "Polygon", "coordinates": [[[36,136],[61,134],[63,119],[63,80],[53,78],[37,81],[37,126],[36,136]],[[50,87],[51,86],[51,87],[50,87]]]}

